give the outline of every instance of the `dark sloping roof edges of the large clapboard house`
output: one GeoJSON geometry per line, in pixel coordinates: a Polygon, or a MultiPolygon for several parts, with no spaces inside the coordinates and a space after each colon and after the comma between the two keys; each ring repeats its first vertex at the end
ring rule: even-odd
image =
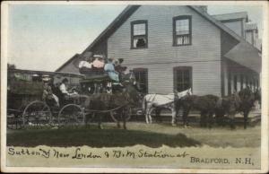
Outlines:
{"type": "MultiPolygon", "coordinates": [[[[108,39],[108,37],[115,31],[117,30],[117,28],[124,22],[126,22],[126,20],[129,18],[129,16],[131,16],[141,5],[128,5],[126,6],[126,8],[123,10],[122,13],[120,13],[117,18],[111,22],[108,27],[103,30],[100,35],[94,39],[91,43],[91,45],[86,48],[82,54],[84,54],[87,51],[91,51],[91,48],[94,48],[98,43],[100,43],[101,41],[103,41],[104,39],[108,39]]],[[[242,37],[240,37],[238,34],[236,34],[233,30],[230,30],[230,28],[228,28],[227,26],[225,26],[223,23],[221,23],[220,21],[218,21],[217,19],[215,19],[212,15],[208,14],[208,13],[204,13],[204,11],[195,6],[195,5],[187,5],[188,7],[190,7],[191,9],[193,9],[196,13],[199,13],[202,17],[204,17],[207,21],[213,23],[213,25],[215,25],[216,27],[218,27],[220,30],[223,30],[225,32],[227,32],[232,38],[237,39],[239,42],[243,42],[244,44],[248,44],[249,46],[253,47],[251,44],[249,44],[245,39],[243,39],[242,37]]],[[[237,16],[239,17],[246,17],[247,18],[247,13],[230,13],[230,16],[235,16],[235,14],[238,14],[237,16]]],[[[221,14],[222,16],[224,16],[224,14],[221,14]]],[[[219,16],[221,16],[219,15],[219,16]]],[[[218,16],[218,15],[214,15],[214,16],[218,16]]],[[[224,19],[224,17],[222,17],[224,19]]],[[[254,48],[254,47],[253,47],[254,48]]],[[[256,48],[256,51],[259,51],[259,49],[256,48]]],[[[56,71],[59,71],[61,68],[63,68],[65,65],[67,65],[68,63],[70,63],[75,57],[70,58],[64,65],[62,65],[61,67],[59,67],[56,71]]]]}

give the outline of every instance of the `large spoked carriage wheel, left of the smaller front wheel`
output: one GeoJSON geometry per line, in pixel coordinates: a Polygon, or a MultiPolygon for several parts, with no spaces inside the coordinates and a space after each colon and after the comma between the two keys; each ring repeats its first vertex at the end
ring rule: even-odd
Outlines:
{"type": "Polygon", "coordinates": [[[51,112],[48,105],[39,100],[30,102],[22,113],[22,126],[46,126],[50,124],[51,112]]]}

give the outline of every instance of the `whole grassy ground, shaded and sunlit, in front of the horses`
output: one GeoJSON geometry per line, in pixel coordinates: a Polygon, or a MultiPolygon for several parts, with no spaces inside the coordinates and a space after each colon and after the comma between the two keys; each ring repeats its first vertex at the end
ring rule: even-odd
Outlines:
{"type": "Polygon", "coordinates": [[[244,130],[237,127],[213,127],[212,129],[198,126],[184,128],[169,124],[152,124],[129,122],[127,130],[116,128],[115,124],[105,123],[104,129],[95,125],[76,128],[43,128],[8,130],[7,145],[13,146],[80,146],[114,147],[144,144],[160,147],[162,144],[171,147],[199,146],[233,146],[257,147],[260,145],[260,126],[252,126],[244,130]]]}

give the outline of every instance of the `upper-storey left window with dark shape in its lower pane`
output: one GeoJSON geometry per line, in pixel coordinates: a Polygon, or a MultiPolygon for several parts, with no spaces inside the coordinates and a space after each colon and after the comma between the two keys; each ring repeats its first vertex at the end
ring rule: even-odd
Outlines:
{"type": "Polygon", "coordinates": [[[131,48],[148,48],[148,22],[131,22],[131,48]]]}

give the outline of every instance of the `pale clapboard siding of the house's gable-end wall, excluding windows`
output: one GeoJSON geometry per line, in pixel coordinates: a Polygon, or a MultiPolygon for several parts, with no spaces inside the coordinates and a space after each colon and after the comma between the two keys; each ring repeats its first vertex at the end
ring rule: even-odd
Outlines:
{"type": "Polygon", "coordinates": [[[148,68],[149,92],[173,91],[173,67],[193,67],[193,92],[221,95],[221,30],[187,6],[143,5],[108,38],[108,57],[148,68]],[[161,13],[161,15],[160,15],[161,13]],[[173,47],[173,17],[192,16],[192,45],[173,47]],[[148,21],[148,48],[130,49],[131,24],[148,21]]]}

